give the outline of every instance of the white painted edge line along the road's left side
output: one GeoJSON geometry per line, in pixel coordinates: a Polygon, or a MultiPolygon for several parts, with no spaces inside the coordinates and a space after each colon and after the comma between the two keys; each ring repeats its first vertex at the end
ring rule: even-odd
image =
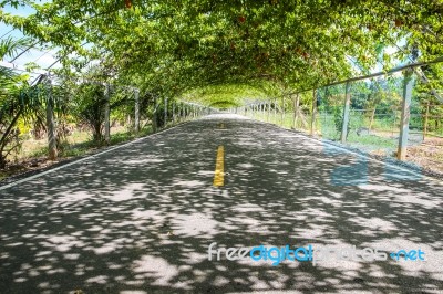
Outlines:
{"type": "MultiPolygon", "coordinates": [[[[198,120],[198,119],[196,119],[196,120],[198,120]]],[[[195,122],[195,120],[190,120],[190,122],[195,122]]],[[[186,124],[188,124],[188,123],[190,123],[190,122],[184,122],[184,123],[182,123],[182,124],[179,124],[179,125],[176,125],[176,126],[174,126],[174,127],[169,127],[169,128],[163,129],[163,130],[161,130],[161,132],[158,132],[158,133],[154,133],[154,134],[147,135],[147,136],[145,136],[145,137],[142,137],[142,138],[138,138],[138,139],[135,139],[135,140],[132,140],[132,141],[128,141],[128,143],[125,143],[125,144],[122,144],[122,145],[119,145],[119,146],[115,146],[115,147],[112,147],[112,148],[106,149],[106,150],[104,150],[104,151],[96,153],[96,154],[93,154],[93,155],[83,157],[83,158],[78,159],[78,160],[74,160],[74,161],[72,161],[72,162],[69,162],[69,164],[65,164],[65,165],[61,165],[60,167],[51,168],[51,169],[49,169],[49,170],[39,172],[39,174],[33,175],[33,176],[30,176],[30,177],[28,177],[28,178],[20,179],[20,180],[17,180],[17,181],[7,183],[7,185],[4,185],[4,186],[0,186],[0,191],[1,191],[1,190],[9,189],[9,188],[11,188],[11,187],[14,187],[14,186],[17,186],[17,185],[19,185],[19,183],[27,182],[27,181],[30,181],[30,180],[33,180],[33,179],[43,177],[43,176],[45,176],[45,175],[48,175],[48,174],[54,172],[54,171],[60,170],[60,169],[62,169],[62,168],[66,168],[66,167],[70,167],[70,166],[73,166],[73,165],[83,162],[83,161],[85,161],[85,160],[87,160],[87,159],[97,157],[97,156],[100,156],[100,155],[111,153],[111,151],[113,151],[113,150],[115,150],[115,149],[119,149],[119,148],[122,148],[122,147],[132,145],[132,144],[134,144],[134,143],[137,143],[137,141],[144,140],[144,139],[154,137],[154,136],[159,135],[159,134],[162,134],[162,133],[165,133],[165,132],[172,130],[172,129],[174,129],[174,128],[177,128],[177,127],[179,127],[179,126],[186,125],[186,124]]]]}

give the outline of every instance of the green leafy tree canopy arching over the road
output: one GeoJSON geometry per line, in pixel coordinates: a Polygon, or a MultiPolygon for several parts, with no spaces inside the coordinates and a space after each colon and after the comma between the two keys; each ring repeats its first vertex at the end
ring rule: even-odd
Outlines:
{"type": "Polygon", "coordinates": [[[442,0],[0,1],[23,4],[35,13],[0,20],[60,48],[65,74],[100,61],[103,78],[220,107],[241,104],[245,87],[281,94],[443,55],[442,0]]]}

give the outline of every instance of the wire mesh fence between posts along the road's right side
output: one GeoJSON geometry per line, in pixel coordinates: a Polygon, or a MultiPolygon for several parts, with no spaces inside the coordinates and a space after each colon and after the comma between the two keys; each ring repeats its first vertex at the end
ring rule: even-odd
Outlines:
{"type": "Polygon", "coordinates": [[[443,172],[443,104],[424,88],[420,75],[410,78],[413,91],[406,105],[405,76],[399,72],[256,101],[237,113],[381,157],[399,158],[399,145],[406,138],[402,160],[443,172]],[[409,128],[402,136],[404,122],[409,128]]]}

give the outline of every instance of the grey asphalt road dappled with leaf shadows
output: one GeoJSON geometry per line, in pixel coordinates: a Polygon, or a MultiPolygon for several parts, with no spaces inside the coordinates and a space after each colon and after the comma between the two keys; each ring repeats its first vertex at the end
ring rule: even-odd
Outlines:
{"type": "Polygon", "coordinates": [[[441,182],[239,116],[0,188],[0,293],[443,293],[441,182]],[[209,261],[213,242],[424,260],[209,261]]]}

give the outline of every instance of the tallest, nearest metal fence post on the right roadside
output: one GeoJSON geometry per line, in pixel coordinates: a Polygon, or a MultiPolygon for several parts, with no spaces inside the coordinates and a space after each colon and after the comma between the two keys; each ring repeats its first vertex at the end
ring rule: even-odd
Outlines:
{"type": "Polygon", "coordinates": [[[411,117],[411,99],[412,99],[412,87],[413,87],[412,71],[406,70],[403,80],[403,103],[402,114],[400,120],[400,138],[396,158],[399,160],[406,159],[408,153],[408,137],[409,137],[409,120],[411,117]]]}

